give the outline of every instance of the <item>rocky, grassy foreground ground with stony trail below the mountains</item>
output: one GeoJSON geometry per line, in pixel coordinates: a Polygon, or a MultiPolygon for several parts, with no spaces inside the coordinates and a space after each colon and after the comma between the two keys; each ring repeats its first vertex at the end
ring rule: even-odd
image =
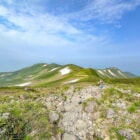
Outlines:
{"type": "Polygon", "coordinates": [[[140,90],[1,89],[1,140],[139,140],[140,90]]]}

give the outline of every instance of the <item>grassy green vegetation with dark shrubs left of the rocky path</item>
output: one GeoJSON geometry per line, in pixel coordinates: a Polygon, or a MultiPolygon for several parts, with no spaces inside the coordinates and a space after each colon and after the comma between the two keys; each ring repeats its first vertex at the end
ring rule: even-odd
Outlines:
{"type": "Polygon", "coordinates": [[[63,132],[56,123],[49,121],[49,110],[38,100],[48,96],[48,93],[13,90],[14,94],[0,94],[1,140],[50,139],[53,134],[63,132]]]}

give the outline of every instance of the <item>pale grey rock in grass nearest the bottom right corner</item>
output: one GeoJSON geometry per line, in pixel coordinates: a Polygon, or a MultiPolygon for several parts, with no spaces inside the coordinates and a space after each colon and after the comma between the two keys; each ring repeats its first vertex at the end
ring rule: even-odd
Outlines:
{"type": "Polygon", "coordinates": [[[133,136],[132,136],[132,130],[131,129],[122,129],[119,130],[119,134],[123,137],[125,137],[127,140],[132,140],[133,136]]]}

